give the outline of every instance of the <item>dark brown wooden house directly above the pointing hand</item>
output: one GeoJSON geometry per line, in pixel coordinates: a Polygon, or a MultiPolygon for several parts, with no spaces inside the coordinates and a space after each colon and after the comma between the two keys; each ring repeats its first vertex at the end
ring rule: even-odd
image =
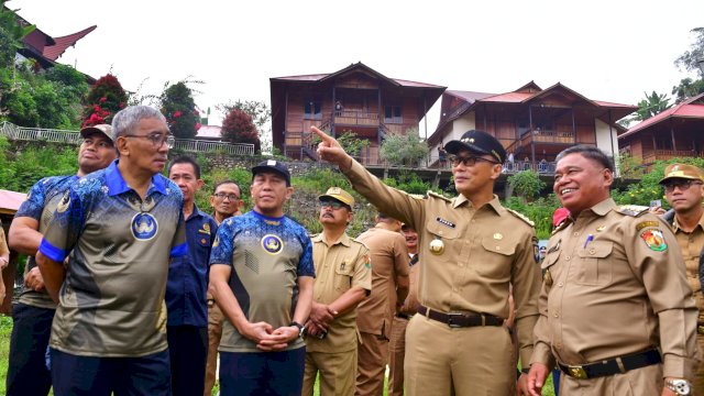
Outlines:
{"type": "Polygon", "coordinates": [[[359,153],[380,164],[378,147],[389,133],[418,128],[446,87],[388,78],[356,63],[332,74],[271,78],[274,147],[295,160],[317,160],[311,125],[333,136],[353,132],[369,141],[359,153]]]}

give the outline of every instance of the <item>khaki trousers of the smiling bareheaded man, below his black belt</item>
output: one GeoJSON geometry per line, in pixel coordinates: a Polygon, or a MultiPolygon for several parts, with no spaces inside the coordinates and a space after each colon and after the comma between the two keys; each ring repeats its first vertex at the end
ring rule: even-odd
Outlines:
{"type": "Polygon", "coordinates": [[[662,394],[662,364],[653,364],[592,380],[560,376],[560,396],[659,396],[662,394]]]}

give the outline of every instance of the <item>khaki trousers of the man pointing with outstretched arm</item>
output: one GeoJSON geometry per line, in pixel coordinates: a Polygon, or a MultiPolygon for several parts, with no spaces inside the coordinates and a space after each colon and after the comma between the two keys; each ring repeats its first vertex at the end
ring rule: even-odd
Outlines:
{"type": "Polygon", "coordinates": [[[406,394],[514,395],[513,348],[506,327],[450,328],[415,315],[406,329],[406,394]]]}

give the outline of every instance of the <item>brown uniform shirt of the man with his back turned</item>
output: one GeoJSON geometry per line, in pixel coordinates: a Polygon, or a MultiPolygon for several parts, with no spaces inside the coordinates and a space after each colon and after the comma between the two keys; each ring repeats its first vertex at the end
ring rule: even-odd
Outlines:
{"type": "Polygon", "coordinates": [[[400,232],[380,227],[358,237],[370,249],[372,257],[372,293],[358,307],[356,326],[361,332],[392,336],[396,315],[398,278],[408,276],[408,248],[400,232]]]}

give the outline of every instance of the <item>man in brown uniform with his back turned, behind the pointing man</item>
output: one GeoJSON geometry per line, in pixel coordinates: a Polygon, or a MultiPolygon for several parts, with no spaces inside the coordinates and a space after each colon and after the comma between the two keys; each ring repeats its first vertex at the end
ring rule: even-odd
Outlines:
{"type": "Polygon", "coordinates": [[[372,294],[359,307],[355,395],[383,395],[388,362],[388,339],[398,307],[408,295],[408,250],[400,221],[380,212],[376,226],[358,240],[370,249],[372,294]]]}

